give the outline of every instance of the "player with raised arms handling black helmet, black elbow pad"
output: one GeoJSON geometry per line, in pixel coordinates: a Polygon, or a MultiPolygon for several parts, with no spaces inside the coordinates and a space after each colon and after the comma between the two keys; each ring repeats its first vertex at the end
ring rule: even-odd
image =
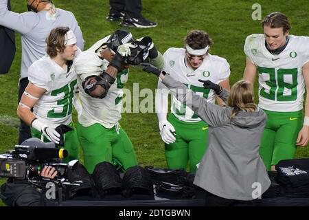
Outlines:
{"type": "MultiPolygon", "coordinates": [[[[117,30],[82,52],[76,60],[79,100],[82,106],[78,113],[77,131],[84,151],[84,166],[89,173],[93,173],[96,164],[112,162],[113,158],[124,169],[137,165],[133,144],[119,126],[123,88],[128,80],[128,65],[126,68],[116,69],[117,72],[106,74],[106,68],[114,66],[112,61],[119,56],[119,45],[133,41],[130,32],[117,30]]],[[[157,52],[153,43],[149,48],[150,62],[163,67],[162,55],[157,52]]]]}

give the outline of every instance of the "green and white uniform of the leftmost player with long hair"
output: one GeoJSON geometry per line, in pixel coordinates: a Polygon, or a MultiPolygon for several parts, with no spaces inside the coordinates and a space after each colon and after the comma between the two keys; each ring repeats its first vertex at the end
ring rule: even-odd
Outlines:
{"type": "MultiPolygon", "coordinates": [[[[60,124],[73,127],[71,113],[77,83],[75,60],[67,72],[46,55],[30,66],[28,74],[31,83],[46,90],[33,107],[36,118],[53,128],[60,124]]],[[[40,131],[33,128],[32,136],[47,141],[40,131]]],[[[78,138],[74,129],[65,134],[65,149],[69,152],[69,156],[64,161],[78,159],[78,148],[78,138]]]]}

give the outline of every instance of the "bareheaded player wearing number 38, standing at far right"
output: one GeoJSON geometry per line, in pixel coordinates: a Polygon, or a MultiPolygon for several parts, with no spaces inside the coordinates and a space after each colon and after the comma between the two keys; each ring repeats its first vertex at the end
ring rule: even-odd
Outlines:
{"type": "Polygon", "coordinates": [[[289,35],[288,17],[268,14],[262,21],[264,34],[247,36],[244,79],[254,83],[258,72],[259,107],[268,116],[260,155],[268,170],[282,159],[293,159],[296,146],[309,140],[309,37],[289,35]]]}

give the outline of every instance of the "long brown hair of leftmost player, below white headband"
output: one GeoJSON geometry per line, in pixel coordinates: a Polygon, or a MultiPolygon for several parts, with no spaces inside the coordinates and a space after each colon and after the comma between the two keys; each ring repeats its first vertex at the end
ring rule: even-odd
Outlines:
{"type": "Polygon", "coordinates": [[[57,53],[62,53],[65,50],[65,34],[69,31],[67,27],[54,28],[46,39],[47,54],[54,58],[57,53]]]}

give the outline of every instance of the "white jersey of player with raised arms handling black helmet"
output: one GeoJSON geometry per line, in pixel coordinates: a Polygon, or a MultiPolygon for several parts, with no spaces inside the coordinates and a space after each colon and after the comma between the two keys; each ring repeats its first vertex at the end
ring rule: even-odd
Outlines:
{"type": "Polygon", "coordinates": [[[88,76],[99,76],[108,66],[108,61],[98,56],[99,48],[104,48],[109,36],[95,43],[89,50],[82,52],[76,59],[76,73],[78,80],[79,100],[82,105],[82,112],[78,113],[78,122],[82,126],[91,126],[99,123],[111,129],[122,118],[122,98],[124,96],[124,83],[128,81],[128,69],[117,74],[115,83],[108,89],[107,95],[100,98],[93,98],[86,94],[82,82],[88,76]]]}

